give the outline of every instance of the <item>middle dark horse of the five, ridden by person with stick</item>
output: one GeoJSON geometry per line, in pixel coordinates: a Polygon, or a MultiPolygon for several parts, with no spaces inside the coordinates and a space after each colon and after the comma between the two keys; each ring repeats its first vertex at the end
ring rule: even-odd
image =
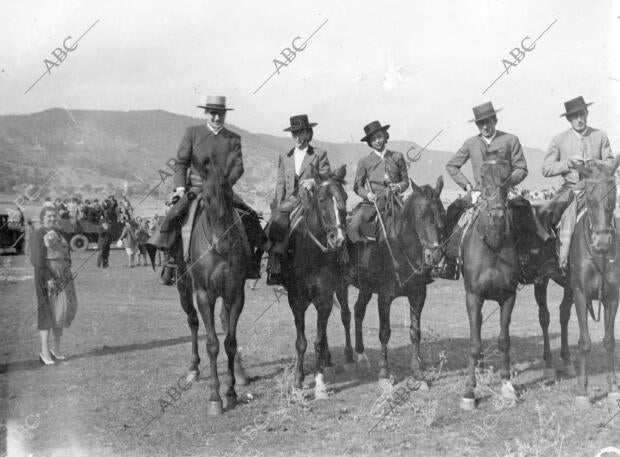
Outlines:
{"type": "Polygon", "coordinates": [[[351,311],[349,310],[348,286],[359,289],[355,302],[355,352],[358,360],[365,360],[362,324],[366,306],[372,294],[378,295],[379,340],[381,358],[379,377],[388,377],[387,345],[390,339],[390,306],[396,297],[406,296],[409,300],[411,326],[409,334],[413,344],[411,369],[414,376],[421,378],[423,364],[420,357],[420,315],[426,300],[426,285],[433,264],[441,258],[441,240],[445,225],[445,210],[439,198],[443,179],[437,179],[435,188],[418,187],[411,181],[413,193],[405,200],[402,213],[394,218],[393,230],[397,246],[391,246],[399,262],[395,271],[387,248],[377,247],[370,262],[363,262],[364,245],[353,245],[348,241],[349,264],[343,269],[341,284],[336,292],[340,302],[341,318],[345,329],[345,362],[354,363],[351,349],[351,311]],[[396,274],[395,274],[396,273],[396,274]]]}

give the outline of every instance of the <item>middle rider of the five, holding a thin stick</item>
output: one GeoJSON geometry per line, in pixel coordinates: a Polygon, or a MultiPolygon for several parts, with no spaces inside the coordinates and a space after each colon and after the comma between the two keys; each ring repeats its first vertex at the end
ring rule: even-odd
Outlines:
{"type": "MultiPolygon", "coordinates": [[[[361,234],[360,228],[364,222],[374,221],[376,208],[383,213],[391,197],[402,207],[400,194],[409,187],[405,158],[400,152],[390,151],[385,147],[390,138],[387,133],[389,128],[389,125],[382,126],[379,121],[373,121],[364,127],[365,135],[360,140],[365,141],[372,151],[357,164],[353,184],[353,191],[364,199],[353,210],[349,226],[349,239],[354,243],[385,238],[385,233],[378,230],[372,230],[372,236],[368,233],[361,234]]],[[[383,214],[379,215],[382,216],[383,214]]],[[[372,226],[373,229],[378,227],[376,224],[372,226]]],[[[388,237],[391,238],[389,234],[388,237]]],[[[393,244],[393,240],[388,241],[393,244]]]]}

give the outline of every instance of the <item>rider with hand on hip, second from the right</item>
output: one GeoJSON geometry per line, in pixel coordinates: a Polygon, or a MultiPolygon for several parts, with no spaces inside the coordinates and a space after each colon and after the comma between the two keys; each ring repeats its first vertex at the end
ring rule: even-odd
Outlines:
{"type": "MultiPolygon", "coordinates": [[[[462,234],[476,215],[477,207],[472,205],[476,204],[480,195],[480,173],[483,162],[487,160],[501,160],[508,164],[511,172],[505,182],[508,188],[518,185],[525,179],[528,173],[527,162],[523,155],[519,138],[495,128],[499,111],[501,109],[496,111],[491,102],[474,107],[474,119],[469,122],[476,123],[480,134],[465,141],[463,146],[446,164],[446,170],[452,179],[468,193],[466,197],[470,200],[467,201],[465,198],[457,199],[448,208],[447,233],[452,234],[452,241],[448,244],[448,254],[453,258],[459,256],[462,234]],[[461,171],[461,167],[470,159],[475,185],[472,185],[461,171]],[[457,225],[459,229],[454,230],[457,225]]],[[[536,240],[540,233],[534,223],[530,204],[525,198],[517,196],[509,200],[508,204],[511,207],[515,225],[518,227],[516,231],[518,237],[517,248],[522,266],[524,266],[528,263],[530,250],[534,248],[534,240],[536,240]]]]}

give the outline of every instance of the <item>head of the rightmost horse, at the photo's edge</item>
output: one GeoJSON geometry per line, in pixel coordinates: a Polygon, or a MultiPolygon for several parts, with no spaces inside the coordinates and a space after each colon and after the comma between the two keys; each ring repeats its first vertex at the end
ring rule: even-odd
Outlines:
{"type": "Polygon", "coordinates": [[[614,173],[620,166],[620,156],[610,167],[602,162],[588,162],[576,168],[584,176],[578,187],[585,190],[588,206],[587,223],[592,249],[597,252],[609,250],[614,241],[614,208],[616,207],[616,183],[614,173]]]}

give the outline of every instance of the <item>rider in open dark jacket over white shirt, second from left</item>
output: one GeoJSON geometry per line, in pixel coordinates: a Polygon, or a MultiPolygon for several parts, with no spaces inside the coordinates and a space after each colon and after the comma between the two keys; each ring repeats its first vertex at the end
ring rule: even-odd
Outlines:
{"type": "Polygon", "coordinates": [[[267,284],[282,284],[282,260],[288,252],[291,214],[300,205],[299,187],[311,190],[317,185],[316,179],[327,177],[331,168],[327,152],[310,146],[317,124],[309,122],[307,114],[290,118],[291,126],[284,129],[291,132],[295,147],[278,158],[278,177],[276,195],[271,208],[268,224],[267,284]],[[318,175],[318,176],[317,176],[318,175]]]}

